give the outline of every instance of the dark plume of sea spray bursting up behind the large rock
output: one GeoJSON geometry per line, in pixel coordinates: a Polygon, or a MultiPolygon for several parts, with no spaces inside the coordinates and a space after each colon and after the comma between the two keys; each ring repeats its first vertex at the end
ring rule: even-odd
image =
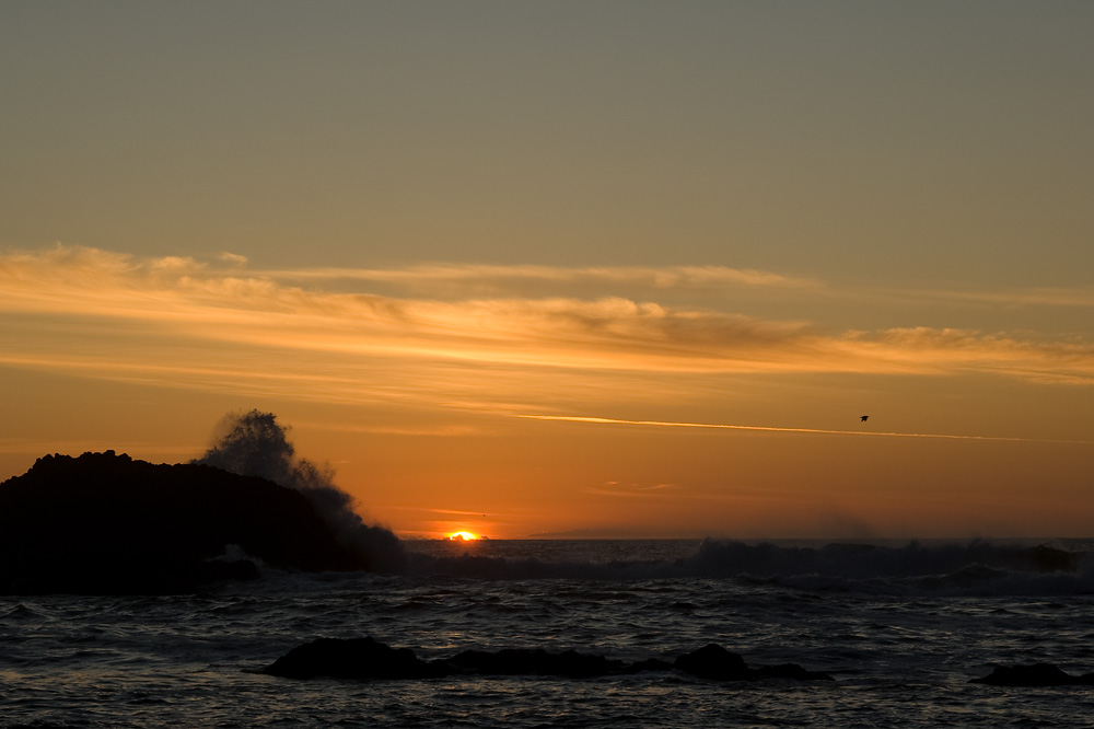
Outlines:
{"type": "Polygon", "coordinates": [[[288,431],[274,413],[232,413],[221,420],[217,442],[191,463],[260,476],[300,491],[339,542],[370,569],[401,571],[406,554],[399,539],[383,526],[365,524],[353,511],[353,497],[335,485],[334,470],[298,458],[288,431]]]}

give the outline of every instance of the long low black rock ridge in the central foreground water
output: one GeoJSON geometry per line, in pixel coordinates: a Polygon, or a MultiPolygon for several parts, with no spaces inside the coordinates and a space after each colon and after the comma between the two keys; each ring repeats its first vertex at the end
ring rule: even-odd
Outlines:
{"type": "Polygon", "coordinates": [[[293,648],[263,672],[291,679],[395,680],[446,675],[594,679],[674,669],[697,678],[718,681],[833,680],[827,673],[806,671],[794,663],[750,670],[740,656],[714,644],[680,656],[674,663],[655,658],[627,663],[574,650],[552,653],[540,648],[505,648],[493,652],[465,650],[451,658],[422,661],[407,648],[395,649],[372,638],[319,638],[293,648]]]}

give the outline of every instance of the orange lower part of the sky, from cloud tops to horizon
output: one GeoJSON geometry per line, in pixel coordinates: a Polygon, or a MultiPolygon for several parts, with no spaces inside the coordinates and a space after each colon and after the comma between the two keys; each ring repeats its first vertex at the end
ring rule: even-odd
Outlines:
{"type": "MultiPolygon", "coordinates": [[[[713,289],[803,311],[834,298],[909,306],[899,291],[719,267],[284,280],[316,276],[240,256],[7,254],[0,306],[14,346],[0,361],[16,416],[0,462],[14,475],[53,451],[184,460],[221,415],[258,407],[293,426],[302,454],[328,460],[370,517],[407,534],[1087,529],[1094,349],[1071,336],[837,329],[655,303],[713,289]],[[357,292],[376,279],[407,292],[357,292]],[[437,279],[445,299],[414,293],[437,279]],[[522,298],[526,279],[556,296],[522,298]]],[[[1089,305],[1083,290],[1055,294],[1089,305]]],[[[1045,305],[1027,296],[1012,292],[1012,305],[1045,305]]]]}

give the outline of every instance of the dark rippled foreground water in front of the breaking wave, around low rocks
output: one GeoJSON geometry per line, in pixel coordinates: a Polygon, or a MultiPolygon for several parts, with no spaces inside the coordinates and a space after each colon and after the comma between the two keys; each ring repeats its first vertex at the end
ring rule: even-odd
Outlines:
{"type": "Polygon", "coordinates": [[[1089,690],[967,681],[1032,658],[1094,671],[1092,608],[1090,595],[819,594],[732,578],[362,575],[281,576],[174,599],[4,599],[0,727],[1080,727],[1089,690]],[[426,658],[526,646],[671,659],[714,641],[753,666],[796,662],[838,681],[726,685],[664,673],[359,684],[247,672],[319,635],[374,635],[426,658]]]}

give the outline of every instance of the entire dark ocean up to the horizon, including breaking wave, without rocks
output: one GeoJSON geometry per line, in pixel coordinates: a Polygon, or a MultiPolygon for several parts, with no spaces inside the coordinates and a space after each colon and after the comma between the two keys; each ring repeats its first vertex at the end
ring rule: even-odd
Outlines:
{"type": "Polygon", "coordinates": [[[171,597],[0,598],[0,727],[1091,727],[1094,541],[410,541],[407,574],[283,574],[171,597]],[[1047,542],[1046,546],[1038,544],[1047,542]],[[1058,571],[1061,552],[1075,555],[1058,571]],[[714,643],[835,681],[293,680],[318,637],[419,658],[569,649],[626,661],[714,643]]]}

